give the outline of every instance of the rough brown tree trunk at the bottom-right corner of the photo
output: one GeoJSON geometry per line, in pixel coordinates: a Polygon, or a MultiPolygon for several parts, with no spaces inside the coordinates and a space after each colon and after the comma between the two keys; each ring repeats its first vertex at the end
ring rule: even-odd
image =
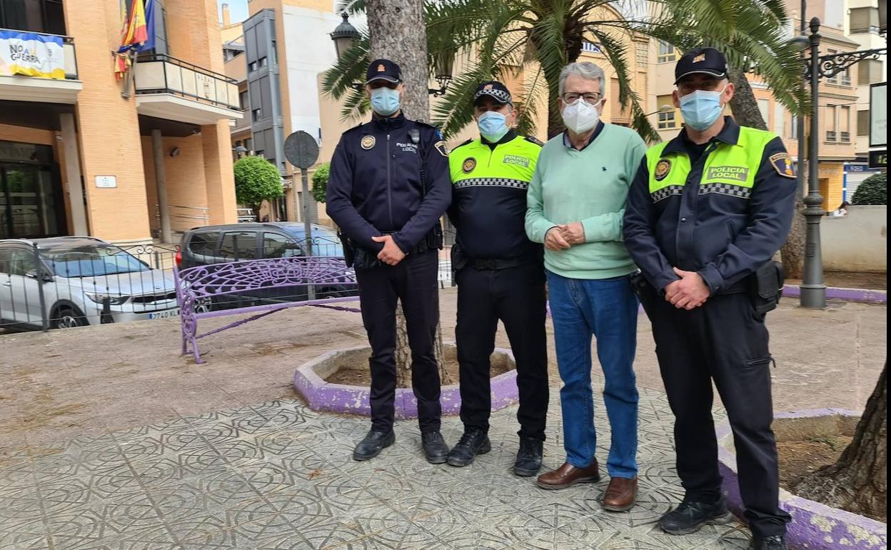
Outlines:
{"type": "Polygon", "coordinates": [[[800,497],[887,522],[887,362],[836,464],[801,480],[800,497]]]}

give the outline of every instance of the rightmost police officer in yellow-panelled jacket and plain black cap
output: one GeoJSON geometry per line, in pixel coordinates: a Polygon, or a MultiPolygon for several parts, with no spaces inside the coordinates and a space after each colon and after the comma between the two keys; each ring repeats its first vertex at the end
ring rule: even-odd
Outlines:
{"type": "Polygon", "coordinates": [[[686,53],[674,76],[685,127],[647,152],[624,226],[643,275],[638,290],[675,416],[685,489],[659,526],[681,535],[732,519],[718,471],[714,380],[736,444],[750,548],[786,550],[790,517],[779,505],[764,315],[779,300],[772,256],[789,234],[795,174],[779,137],[722,116],[733,96],[723,53],[686,53]]]}

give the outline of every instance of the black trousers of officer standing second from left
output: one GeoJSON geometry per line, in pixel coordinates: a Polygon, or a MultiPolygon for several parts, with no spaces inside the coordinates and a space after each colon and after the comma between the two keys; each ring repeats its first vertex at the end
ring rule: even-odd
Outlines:
{"type": "Polygon", "coordinates": [[[495,331],[501,319],[517,363],[519,435],[544,440],[548,412],[544,267],[538,262],[499,270],[464,267],[456,280],[455,338],[464,428],[489,429],[489,357],[495,349],[495,331]]]}

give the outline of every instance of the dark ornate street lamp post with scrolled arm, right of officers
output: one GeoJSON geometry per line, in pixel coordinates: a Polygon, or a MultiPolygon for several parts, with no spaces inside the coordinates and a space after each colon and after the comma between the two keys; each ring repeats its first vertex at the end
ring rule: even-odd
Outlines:
{"type": "MultiPolygon", "coordinates": [[[[805,78],[811,82],[811,135],[807,155],[807,196],[805,196],[805,218],[807,233],[805,234],[805,274],[801,284],[802,308],[826,307],[826,284],[823,282],[823,259],[820,246],[820,222],[826,214],[822,208],[823,197],[820,194],[820,78],[832,78],[839,72],[848,69],[866,59],[879,59],[887,53],[887,47],[859,52],[834,53],[820,55],[820,20],[814,17],[810,23],[811,58],[805,71],[805,78]]],[[[799,157],[801,155],[799,154],[799,157]]]]}

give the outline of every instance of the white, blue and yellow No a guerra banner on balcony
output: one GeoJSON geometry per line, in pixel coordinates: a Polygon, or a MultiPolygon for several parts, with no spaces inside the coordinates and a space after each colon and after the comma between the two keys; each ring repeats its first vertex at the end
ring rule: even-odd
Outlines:
{"type": "Polygon", "coordinates": [[[65,78],[61,37],[0,30],[0,76],[65,78]]]}

